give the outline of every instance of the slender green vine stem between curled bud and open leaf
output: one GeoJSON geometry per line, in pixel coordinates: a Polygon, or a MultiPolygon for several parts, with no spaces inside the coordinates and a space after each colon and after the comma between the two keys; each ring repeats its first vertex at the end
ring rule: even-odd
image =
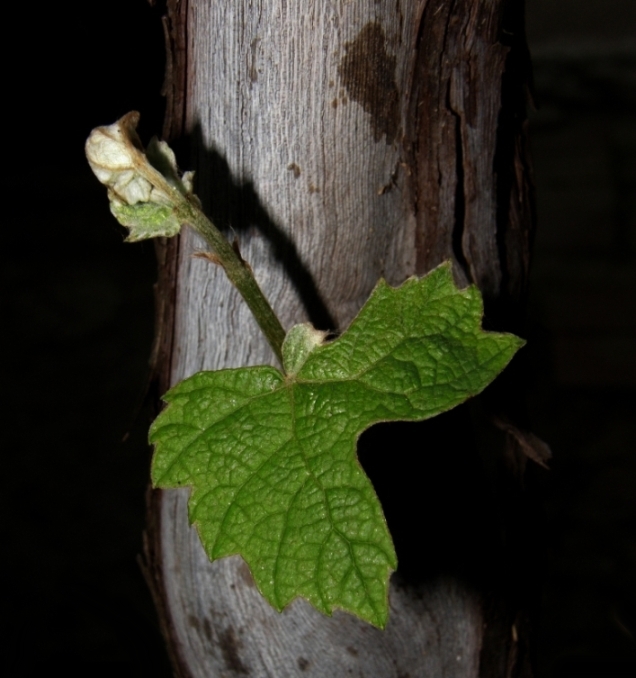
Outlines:
{"type": "Polygon", "coordinates": [[[283,364],[285,330],[259,287],[249,264],[242,259],[219,229],[187,197],[175,201],[175,215],[194,229],[212,248],[215,261],[223,267],[229,281],[236,287],[254,315],[267,342],[283,364]]]}

